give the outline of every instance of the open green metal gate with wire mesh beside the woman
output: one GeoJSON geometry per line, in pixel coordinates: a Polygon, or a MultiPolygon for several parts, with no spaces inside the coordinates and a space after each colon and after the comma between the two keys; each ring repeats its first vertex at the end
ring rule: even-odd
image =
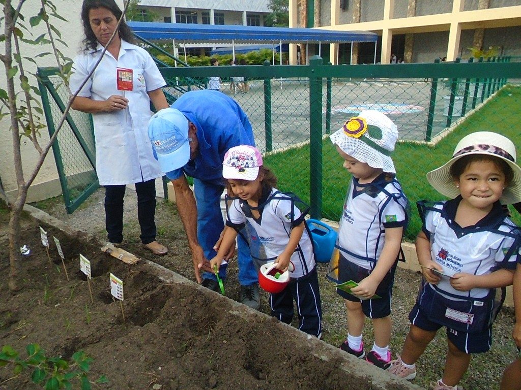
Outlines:
{"type": "MultiPolygon", "coordinates": [[[[38,85],[49,136],[56,131],[69,92],[56,68],[38,68],[38,85]]],[[[75,211],[98,187],[92,116],[71,110],[53,144],[54,159],[68,214],[75,211]]]]}

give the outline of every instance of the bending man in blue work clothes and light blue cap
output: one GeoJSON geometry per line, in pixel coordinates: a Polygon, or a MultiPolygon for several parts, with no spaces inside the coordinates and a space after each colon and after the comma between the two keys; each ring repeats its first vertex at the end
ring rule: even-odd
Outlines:
{"type": "MultiPolygon", "coordinates": [[[[250,121],[239,104],[214,90],[181,95],[168,109],[157,112],[148,125],[159,164],[172,180],[181,221],[192,252],[197,282],[210,290],[219,285],[208,259],[215,257],[224,229],[220,200],[225,189],[222,160],[228,149],[254,145],[250,121]],[[186,176],[193,177],[193,192],[186,176]],[[195,197],[194,197],[195,196],[195,197]],[[203,272],[200,276],[200,269],[203,272]]],[[[239,302],[259,307],[258,276],[247,243],[239,237],[239,302]]],[[[227,248],[226,260],[235,249],[227,248]]],[[[226,278],[227,263],[219,276],[226,278]]]]}

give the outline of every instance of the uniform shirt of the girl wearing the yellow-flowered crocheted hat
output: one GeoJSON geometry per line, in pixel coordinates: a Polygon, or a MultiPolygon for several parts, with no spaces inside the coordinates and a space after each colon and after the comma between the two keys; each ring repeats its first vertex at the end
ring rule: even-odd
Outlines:
{"type": "Polygon", "coordinates": [[[344,257],[373,269],[383,249],[385,229],[407,225],[406,204],[394,175],[382,173],[368,184],[359,184],[353,177],[338,229],[337,247],[344,257]]]}

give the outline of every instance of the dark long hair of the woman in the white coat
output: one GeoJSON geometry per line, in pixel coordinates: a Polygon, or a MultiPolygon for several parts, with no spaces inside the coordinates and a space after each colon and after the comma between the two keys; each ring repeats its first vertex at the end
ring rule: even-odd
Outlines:
{"type": "MultiPolygon", "coordinates": [[[[95,50],[98,45],[98,41],[96,39],[96,36],[94,35],[94,32],[91,29],[91,23],[89,21],[90,10],[96,8],[108,9],[110,12],[114,14],[116,20],[119,20],[119,18],[121,17],[121,9],[119,9],[118,5],[114,0],[84,0],[83,5],[81,6],[81,21],[83,23],[83,32],[85,33],[85,39],[83,40],[83,45],[85,46],[85,48],[83,49],[83,51],[95,50]]],[[[130,27],[128,27],[128,24],[125,23],[124,19],[121,21],[121,24],[119,25],[118,33],[119,37],[122,40],[135,44],[132,31],[130,30],[130,27]]]]}

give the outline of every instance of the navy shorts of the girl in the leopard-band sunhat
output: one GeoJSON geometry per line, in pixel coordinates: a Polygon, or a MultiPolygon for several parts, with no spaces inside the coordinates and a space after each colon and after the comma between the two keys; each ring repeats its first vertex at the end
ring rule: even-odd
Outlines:
{"type": "MultiPolygon", "coordinates": [[[[432,322],[424,313],[424,310],[419,307],[418,302],[414,304],[411,313],[409,313],[409,321],[418,328],[428,332],[436,332],[443,327],[440,323],[432,322]]],[[[487,352],[492,345],[492,327],[480,333],[467,333],[449,327],[445,327],[445,329],[447,339],[449,339],[457,349],[466,354],[487,352]]]]}

